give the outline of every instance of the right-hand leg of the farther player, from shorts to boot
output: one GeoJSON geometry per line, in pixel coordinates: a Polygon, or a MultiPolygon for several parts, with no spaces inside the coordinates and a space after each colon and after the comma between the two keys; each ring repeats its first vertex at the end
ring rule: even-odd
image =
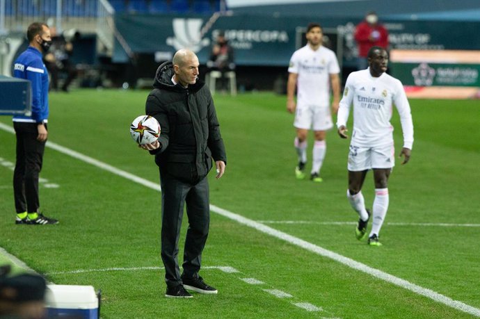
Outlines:
{"type": "Polygon", "coordinates": [[[333,127],[332,115],[329,106],[315,106],[312,119],[312,126],[315,134],[312,159],[312,181],[322,181],[320,170],[327,151],[326,131],[333,127]]]}

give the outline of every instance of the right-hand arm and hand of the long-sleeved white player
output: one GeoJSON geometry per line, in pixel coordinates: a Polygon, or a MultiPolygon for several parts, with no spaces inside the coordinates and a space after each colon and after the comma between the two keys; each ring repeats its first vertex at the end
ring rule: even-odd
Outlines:
{"type": "Polygon", "coordinates": [[[410,104],[400,81],[397,83],[397,90],[394,94],[394,104],[400,115],[401,131],[403,133],[403,147],[399,156],[403,156],[402,164],[406,164],[410,160],[413,147],[413,120],[410,104]]]}

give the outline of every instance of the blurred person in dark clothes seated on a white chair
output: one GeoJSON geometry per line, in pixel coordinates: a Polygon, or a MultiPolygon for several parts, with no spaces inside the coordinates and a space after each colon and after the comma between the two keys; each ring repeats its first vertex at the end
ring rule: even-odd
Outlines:
{"type": "Polygon", "coordinates": [[[210,57],[207,61],[207,68],[210,71],[220,71],[221,77],[221,89],[227,88],[227,79],[225,73],[233,71],[235,69],[234,63],[234,51],[228,44],[227,38],[223,31],[219,32],[216,38],[216,43],[211,47],[210,57]]]}

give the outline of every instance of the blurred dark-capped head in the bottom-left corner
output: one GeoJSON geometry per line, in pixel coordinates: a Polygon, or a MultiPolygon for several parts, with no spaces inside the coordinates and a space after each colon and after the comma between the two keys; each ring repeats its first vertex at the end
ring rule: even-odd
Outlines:
{"type": "Polygon", "coordinates": [[[10,265],[0,267],[0,319],[46,318],[47,283],[39,275],[8,276],[10,265]]]}

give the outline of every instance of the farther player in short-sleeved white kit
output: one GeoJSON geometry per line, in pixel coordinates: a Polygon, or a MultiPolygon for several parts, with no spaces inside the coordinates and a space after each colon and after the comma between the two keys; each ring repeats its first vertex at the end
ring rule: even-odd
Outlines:
{"type": "Polygon", "coordinates": [[[319,24],[307,26],[307,45],[291,56],[287,83],[287,111],[295,112],[295,149],[298,154],[297,179],[305,178],[307,163],[307,133],[314,131],[312,171],[310,179],[321,182],[320,169],[326,153],[326,131],[333,127],[330,113],[330,89],[333,90],[333,113],[340,100],[340,68],[335,53],[323,47],[323,32],[319,24]],[[330,85],[331,83],[331,85],[330,85]],[[295,102],[295,89],[297,100],[295,102]]]}

